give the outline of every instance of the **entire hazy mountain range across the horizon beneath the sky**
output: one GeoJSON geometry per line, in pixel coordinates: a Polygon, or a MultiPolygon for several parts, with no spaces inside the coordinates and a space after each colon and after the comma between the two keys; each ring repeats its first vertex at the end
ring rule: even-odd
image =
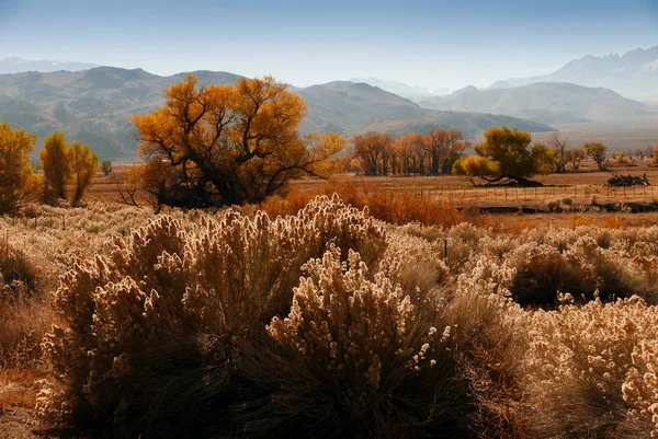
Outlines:
{"type": "MultiPolygon", "coordinates": [[[[160,77],[141,69],[94,67],[86,62],[0,60],[0,119],[36,132],[43,140],[60,130],[71,140],[92,145],[104,159],[134,159],[137,149],[132,114],[148,113],[163,102],[162,90],[184,73],[160,77]]],[[[196,71],[202,84],[234,83],[239,76],[196,71]]],[[[658,47],[623,56],[587,56],[554,73],[498,81],[489,89],[411,86],[362,78],[296,88],[307,117],[300,130],[367,130],[394,136],[458,129],[467,137],[491,126],[510,125],[546,132],[560,124],[632,120],[658,115],[658,47]],[[613,91],[614,90],[614,91],[613,91]]]]}

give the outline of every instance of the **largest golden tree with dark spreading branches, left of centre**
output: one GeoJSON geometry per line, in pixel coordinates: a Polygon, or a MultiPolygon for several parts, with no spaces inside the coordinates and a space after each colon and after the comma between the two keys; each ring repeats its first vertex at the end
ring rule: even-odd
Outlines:
{"type": "Polygon", "coordinates": [[[159,204],[258,201],[291,178],[327,176],[328,161],[345,143],[332,134],[300,137],[306,104],[272,77],[200,88],[188,74],[164,97],[162,107],[132,118],[139,154],[174,172],[158,194],[159,204]]]}

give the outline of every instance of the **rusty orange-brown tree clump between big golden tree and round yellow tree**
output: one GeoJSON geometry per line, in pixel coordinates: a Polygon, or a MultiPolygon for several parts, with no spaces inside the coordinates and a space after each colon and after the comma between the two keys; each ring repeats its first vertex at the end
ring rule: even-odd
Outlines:
{"type": "Polygon", "coordinates": [[[470,146],[461,131],[434,129],[428,135],[408,134],[397,139],[370,131],[356,136],[354,158],[366,175],[450,174],[470,146]]]}

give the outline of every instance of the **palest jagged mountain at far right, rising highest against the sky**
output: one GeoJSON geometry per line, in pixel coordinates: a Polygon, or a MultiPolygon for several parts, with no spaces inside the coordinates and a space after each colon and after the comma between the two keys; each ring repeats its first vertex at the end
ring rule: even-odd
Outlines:
{"type": "Polygon", "coordinates": [[[495,82],[490,89],[504,89],[536,82],[570,82],[612,89],[623,96],[658,102],[658,46],[572,60],[551,74],[512,78],[495,82]]]}

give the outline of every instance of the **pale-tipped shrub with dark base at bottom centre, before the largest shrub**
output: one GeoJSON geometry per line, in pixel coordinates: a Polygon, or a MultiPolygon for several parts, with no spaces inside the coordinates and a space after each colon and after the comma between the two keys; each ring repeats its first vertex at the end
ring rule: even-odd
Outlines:
{"type": "Polygon", "coordinates": [[[353,252],[345,264],[333,247],[305,269],[288,317],[268,326],[274,347],[248,358],[247,373],[270,395],[256,407],[269,417],[247,424],[250,437],[474,436],[468,383],[450,326],[433,326],[436,312],[422,319],[388,278],[368,280],[353,252]]]}

